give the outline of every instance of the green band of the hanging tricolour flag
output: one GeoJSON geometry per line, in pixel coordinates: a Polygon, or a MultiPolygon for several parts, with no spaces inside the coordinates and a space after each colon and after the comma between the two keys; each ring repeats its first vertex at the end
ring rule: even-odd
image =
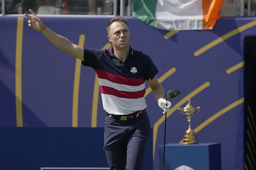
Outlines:
{"type": "Polygon", "coordinates": [[[156,23],[157,0],[133,0],[133,16],[146,22],[152,27],[157,27],[156,23]]]}

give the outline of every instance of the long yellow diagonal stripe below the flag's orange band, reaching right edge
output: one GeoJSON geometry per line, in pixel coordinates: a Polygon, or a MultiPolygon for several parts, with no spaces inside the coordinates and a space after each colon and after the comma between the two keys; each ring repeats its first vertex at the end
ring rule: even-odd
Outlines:
{"type": "Polygon", "coordinates": [[[245,24],[244,26],[241,26],[241,27],[239,27],[239,28],[237,28],[237,29],[231,31],[231,32],[229,32],[229,33],[227,33],[227,34],[221,36],[220,38],[217,38],[216,40],[214,40],[214,41],[208,43],[207,45],[203,46],[203,47],[200,48],[198,51],[196,51],[196,52],[194,53],[195,57],[198,57],[198,56],[201,55],[202,53],[204,53],[204,52],[206,52],[207,50],[209,50],[210,48],[212,48],[212,47],[218,45],[219,43],[225,41],[226,39],[228,39],[228,38],[230,38],[230,37],[232,37],[232,36],[234,36],[234,35],[237,35],[237,34],[243,32],[243,31],[245,31],[245,30],[247,30],[247,29],[249,29],[249,28],[251,28],[251,27],[253,27],[253,26],[255,26],[255,25],[256,25],[256,20],[251,21],[251,22],[245,24]]]}

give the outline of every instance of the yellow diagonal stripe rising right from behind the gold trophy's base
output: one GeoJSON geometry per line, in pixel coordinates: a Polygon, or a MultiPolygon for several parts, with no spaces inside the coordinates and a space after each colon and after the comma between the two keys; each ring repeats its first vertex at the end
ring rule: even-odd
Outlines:
{"type": "MultiPolygon", "coordinates": [[[[196,129],[194,129],[195,133],[199,132],[200,130],[202,130],[204,127],[206,127],[207,125],[209,125],[211,122],[213,122],[214,120],[216,120],[217,118],[219,118],[221,115],[223,115],[224,113],[228,112],[229,110],[237,107],[238,105],[242,104],[244,102],[244,98],[239,99],[238,101],[228,105],[227,107],[225,107],[224,109],[220,110],[219,112],[217,112],[216,114],[212,115],[210,118],[208,118],[207,120],[205,120],[205,122],[203,122],[201,125],[199,125],[196,129]]],[[[182,140],[181,140],[182,141],[182,140]]],[[[180,141],[180,143],[181,143],[180,141]]]]}

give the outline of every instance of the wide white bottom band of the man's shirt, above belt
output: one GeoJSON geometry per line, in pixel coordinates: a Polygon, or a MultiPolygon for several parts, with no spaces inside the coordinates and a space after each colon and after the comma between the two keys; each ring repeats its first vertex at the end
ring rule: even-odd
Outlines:
{"type": "Polygon", "coordinates": [[[127,99],[118,98],[110,94],[101,94],[103,109],[112,114],[125,115],[146,108],[144,98],[127,99]]]}

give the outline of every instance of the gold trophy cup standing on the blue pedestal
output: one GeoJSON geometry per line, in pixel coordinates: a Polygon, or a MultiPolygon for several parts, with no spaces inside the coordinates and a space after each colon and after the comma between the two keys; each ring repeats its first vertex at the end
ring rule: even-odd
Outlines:
{"type": "Polygon", "coordinates": [[[179,108],[178,111],[182,114],[187,115],[188,120],[188,130],[186,130],[184,138],[182,139],[182,144],[197,144],[197,136],[196,133],[191,129],[191,119],[192,115],[196,114],[196,112],[200,111],[200,107],[194,108],[190,104],[190,99],[188,99],[188,103],[186,104],[186,107],[179,108]]]}

